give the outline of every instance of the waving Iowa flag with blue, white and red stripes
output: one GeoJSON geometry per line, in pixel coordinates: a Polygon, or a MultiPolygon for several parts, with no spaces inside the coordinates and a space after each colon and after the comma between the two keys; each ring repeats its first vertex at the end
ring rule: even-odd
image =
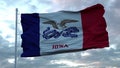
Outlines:
{"type": "Polygon", "coordinates": [[[109,46],[101,4],[84,10],[22,14],[21,57],[75,52],[109,46]]]}

